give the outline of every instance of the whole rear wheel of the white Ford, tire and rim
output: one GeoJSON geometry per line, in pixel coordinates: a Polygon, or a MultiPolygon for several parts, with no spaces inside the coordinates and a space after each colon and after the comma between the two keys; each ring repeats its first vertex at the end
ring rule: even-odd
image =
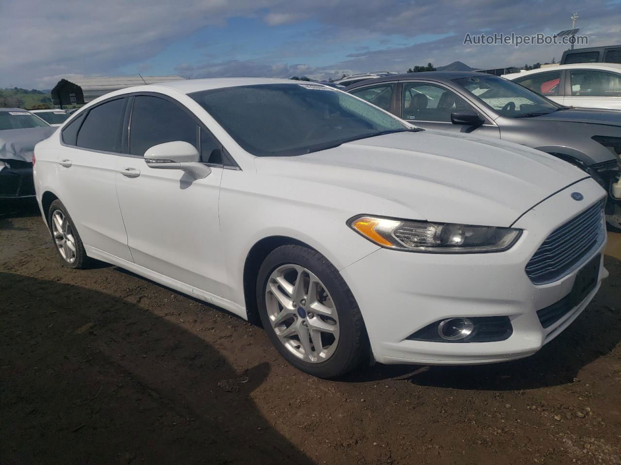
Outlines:
{"type": "Polygon", "coordinates": [[[69,268],[87,268],[90,259],[78,231],[60,200],[54,200],[48,210],[48,224],[52,241],[63,265],[69,268]]]}

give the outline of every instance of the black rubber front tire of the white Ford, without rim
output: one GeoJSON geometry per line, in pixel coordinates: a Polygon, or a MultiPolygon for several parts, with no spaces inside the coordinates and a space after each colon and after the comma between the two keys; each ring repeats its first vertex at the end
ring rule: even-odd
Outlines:
{"type": "Polygon", "coordinates": [[[338,378],[368,360],[369,340],[360,308],[350,288],[337,268],[316,250],[304,246],[287,245],[274,249],[264,260],[256,280],[256,301],[259,316],[268,337],[278,352],[291,365],[318,378],[338,378]],[[293,263],[307,268],[322,281],[332,297],[338,314],[340,336],[335,352],[326,361],[310,363],[300,360],[284,347],[271,326],[266,309],[265,290],[271,273],[281,265],[293,263]]]}

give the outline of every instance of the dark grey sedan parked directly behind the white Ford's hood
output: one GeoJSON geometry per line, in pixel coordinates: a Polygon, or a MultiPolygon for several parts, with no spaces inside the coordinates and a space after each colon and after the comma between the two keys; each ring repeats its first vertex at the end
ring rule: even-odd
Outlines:
{"type": "Polygon", "coordinates": [[[609,192],[607,221],[621,228],[621,112],[564,107],[508,79],[468,71],[386,76],[347,91],[422,128],[503,139],[575,164],[609,192]]]}

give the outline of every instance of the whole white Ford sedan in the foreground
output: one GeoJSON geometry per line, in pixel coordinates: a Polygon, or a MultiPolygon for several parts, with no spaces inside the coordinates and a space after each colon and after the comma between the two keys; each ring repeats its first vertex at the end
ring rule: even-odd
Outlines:
{"type": "Polygon", "coordinates": [[[66,266],[103,260],[260,321],[325,378],[532,355],[607,275],[605,192],[582,170],[320,84],[112,92],[34,162],[66,266]]]}

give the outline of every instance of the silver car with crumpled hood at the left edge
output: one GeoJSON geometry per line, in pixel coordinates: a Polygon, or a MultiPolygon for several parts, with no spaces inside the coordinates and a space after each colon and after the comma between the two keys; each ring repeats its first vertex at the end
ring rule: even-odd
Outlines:
{"type": "Polygon", "coordinates": [[[21,108],[0,108],[0,200],[34,197],[32,151],[55,128],[21,108]]]}

